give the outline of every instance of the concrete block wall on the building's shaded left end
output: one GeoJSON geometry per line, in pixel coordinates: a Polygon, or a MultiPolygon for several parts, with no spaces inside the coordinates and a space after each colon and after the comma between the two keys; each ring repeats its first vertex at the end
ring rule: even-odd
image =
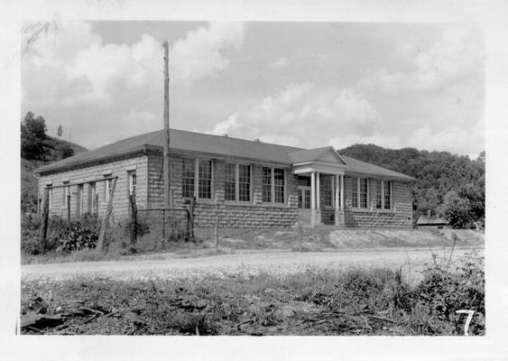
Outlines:
{"type": "MultiPolygon", "coordinates": [[[[70,186],[70,217],[76,218],[78,208],[79,185],[83,186],[83,213],[92,212],[88,208],[88,192],[91,182],[96,183],[96,194],[98,195],[97,210],[98,216],[106,214],[107,202],[105,199],[106,181],[104,173],[111,171],[110,176],[117,176],[115,195],[113,197],[113,212],[110,220],[121,221],[128,217],[128,177],[127,170],[136,171],[136,203],[138,208],[144,208],[147,204],[146,180],[148,179],[148,157],[143,153],[124,156],[109,162],[97,162],[93,165],[80,166],[70,171],[48,173],[41,176],[39,181],[39,197],[42,199],[43,189],[46,184],[51,183],[53,187],[64,185],[69,181],[70,186]]],[[[109,177],[109,175],[107,175],[109,177]]],[[[50,216],[67,218],[67,207],[65,204],[65,188],[54,188],[51,197],[50,216]]]]}

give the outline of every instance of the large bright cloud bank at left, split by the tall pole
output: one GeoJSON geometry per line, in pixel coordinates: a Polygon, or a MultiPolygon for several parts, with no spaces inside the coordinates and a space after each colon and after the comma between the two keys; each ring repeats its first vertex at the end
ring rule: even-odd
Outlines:
{"type": "MultiPolygon", "coordinates": [[[[48,29],[23,53],[23,111],[44,116],[50,134],[62,124],[74,142],[92,148],[161,127],[161,42],[151,34],[129,44],[106,42],[87,22],[48,29]]],[[[209,23],[174,42],[175,97],[224,71],[244,32],[242,23],[209,23]]]]}

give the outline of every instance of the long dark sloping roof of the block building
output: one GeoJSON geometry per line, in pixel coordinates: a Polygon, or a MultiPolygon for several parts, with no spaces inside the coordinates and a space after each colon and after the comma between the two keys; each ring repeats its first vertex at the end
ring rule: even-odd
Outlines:
{"type": "MultiPolygon", "coordinates": [[[[118,155],[136,153],[149,149],[161,151],[163,144],[164,131],[159,130],[126,138],[85,153],[79,153],[59,162],[46,164],[35,169],[33,172],[63,171],[64,169],[69,169],[78,165],[85,165],[92,162],[107,160],[118,155]]],[[[346,173],[352,172],[371,176],[390,177],[399,180],[415,180],[410,176],[396,171],[390,171],[374,164],[361,162],[351,157],[341,156],[331,146],[303,149],[287,145],[248,141],[224,135],[202,134],[171,129],[170,147],[173,153],[179,151],[208,153],[287,165],[297,162],[319,161],[322,157],[328,157],[328,160],[332,160],[330,156],[333,156],[336,158],[337,163],[346,165],[346,173]]]]}

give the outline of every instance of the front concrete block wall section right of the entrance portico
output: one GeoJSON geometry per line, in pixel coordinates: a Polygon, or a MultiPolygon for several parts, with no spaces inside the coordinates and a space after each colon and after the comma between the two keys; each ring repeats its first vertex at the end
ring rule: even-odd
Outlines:
{"type": "Polygon", "coordinates": [[[369,180],[369,196],[367,200],[370,208],[352,208],[352,178],[345,177],[345,224],[346,227],[361,228],[412,228],[412,197],[411,183],[392,180],[393,208],[390,210],[377,209],[374,199],[375,182],[369,180]]]}

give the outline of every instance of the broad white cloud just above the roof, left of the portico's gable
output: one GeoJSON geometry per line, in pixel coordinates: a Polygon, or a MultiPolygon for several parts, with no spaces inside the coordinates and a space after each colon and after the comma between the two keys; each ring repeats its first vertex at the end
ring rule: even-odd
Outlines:
{"type": "Polygon", "coordinates": [[[300,146],[326,145],[323,134],[370,134],[379,120],[374,107],[351,89],[290,84],[246,111],[218,123],[216,134],[300,146]]]}

